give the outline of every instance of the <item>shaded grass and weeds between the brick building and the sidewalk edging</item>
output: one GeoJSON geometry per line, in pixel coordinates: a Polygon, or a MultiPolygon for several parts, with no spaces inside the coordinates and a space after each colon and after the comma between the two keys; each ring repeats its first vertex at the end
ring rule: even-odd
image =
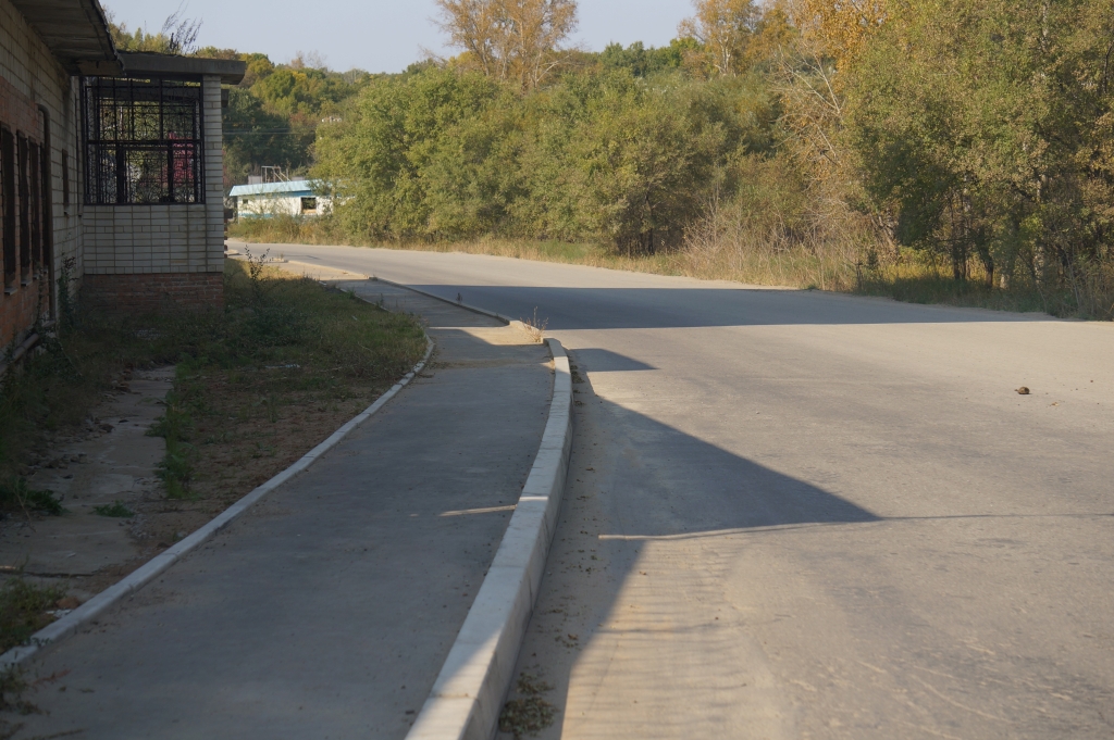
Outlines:
{"type": "MultiPolygon", "coordinates": [[[[175,366],[165,412],[149,432],[166,438],[158,467],[166,497],[116,501],[94,513],[143,514],[145,546],[157,550],[289,466],[424,354],[413,316],[281,273],[258,257],[228,260],[224,277],[225,306],[209,310],[97,315],[63,302],[57,333],[0,384],[0,520],[33,526],[42,516],[67,515],[52,492],[36,490],[31,473],[50,464],[56,440],[96,434],[98,404],[126,389],[134,372],[175,366]]],[[[65,279],[59,288],[69,295],[65,279]]],[[[52,621],[52,610],[76,606],[66,605],[65,591],[6,564],[0,652],[52,621]]]]}

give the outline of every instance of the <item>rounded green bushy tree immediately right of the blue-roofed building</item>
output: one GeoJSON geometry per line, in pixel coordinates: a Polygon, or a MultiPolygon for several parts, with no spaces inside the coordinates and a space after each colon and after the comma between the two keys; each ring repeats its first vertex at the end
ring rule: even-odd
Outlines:
{"type": "Polygon", "coordinates": [[[500,170],[515,170],[500,142],[510,122],[499,110],[512,101],[482,75],[438,68],[371,85],[317,140],[316,174],[338,189],[338,217],[387,238],[498,224],[500,170]]]}

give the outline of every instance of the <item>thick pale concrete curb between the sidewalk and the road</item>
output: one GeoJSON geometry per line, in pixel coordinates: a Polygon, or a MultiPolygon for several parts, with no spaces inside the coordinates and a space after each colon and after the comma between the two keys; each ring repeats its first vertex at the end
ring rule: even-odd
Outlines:
{"type": "Polygon", "coordinates": [[[541,446],[495,561],[407,740],[490,740],[498,729],[557,530],[573,452],[568,355],[557,339],[546,342],[556,372],[541,446]]]}

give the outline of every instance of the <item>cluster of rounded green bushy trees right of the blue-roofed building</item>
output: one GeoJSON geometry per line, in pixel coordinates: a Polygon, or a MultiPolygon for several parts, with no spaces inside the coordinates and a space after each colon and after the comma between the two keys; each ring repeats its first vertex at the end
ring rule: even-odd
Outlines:
{"type": "Polygon", "coordinates": [[[680,243],[732,157],[772,141],[755,79],[686,79],[615,65],[525,96],[439,68],[379,80],[322,127],[315,175],[338,188],[338,219],[373,238],[596,237],[653,253],[680,243]]]}

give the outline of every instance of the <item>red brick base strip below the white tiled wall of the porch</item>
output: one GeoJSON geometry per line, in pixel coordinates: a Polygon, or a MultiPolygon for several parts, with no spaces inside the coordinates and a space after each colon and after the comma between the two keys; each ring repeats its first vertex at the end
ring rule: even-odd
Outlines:
{"type": "Polygon", "coordinates": [[[221,273],[86,275],[81,303],[113,313],[221,308],[224,306],[224,278],[221,273]]]}

